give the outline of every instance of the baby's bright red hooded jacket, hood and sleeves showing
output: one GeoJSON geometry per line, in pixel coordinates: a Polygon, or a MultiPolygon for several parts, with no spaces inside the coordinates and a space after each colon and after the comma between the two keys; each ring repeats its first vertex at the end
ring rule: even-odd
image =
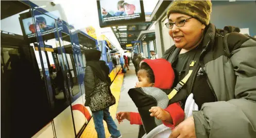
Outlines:
{"type": "MultiPolygon", "coordinates": [[[[164,60],[163,58],[156,60],[146,59],[143,60],[140,65],[143,62],[148,64],[153,70],[155,75],[155,87],[160,89],[170,89],[173,86],[175,74],[172,65],[168,61],[164,60]]],[[[173,124],[162,121],[165,126],[175,127],[184,120],[185,114],[179,103],[170,104],[164,110],[167,111],[173,119],[173,124]]],[[[139,113],[130,112],[130,124],[142,125],[141,116],[139,113]]]]}

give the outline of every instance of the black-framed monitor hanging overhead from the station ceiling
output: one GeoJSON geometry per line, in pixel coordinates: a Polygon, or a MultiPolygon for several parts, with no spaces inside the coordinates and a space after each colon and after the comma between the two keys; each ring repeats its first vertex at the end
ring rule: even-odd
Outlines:
{"type": "Polygon", "coordinates": [[[145,22],[143,1],[140,0],[100,0],[97,7],[100,27],[145,22]]]}

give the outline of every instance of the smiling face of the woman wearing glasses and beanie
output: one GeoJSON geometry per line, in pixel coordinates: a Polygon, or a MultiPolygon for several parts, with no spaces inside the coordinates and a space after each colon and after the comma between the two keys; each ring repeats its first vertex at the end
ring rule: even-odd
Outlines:
{"type": "MultiPolygon", "coordinates": [[[[191,16],[181,13],[171,13],[168,21],[175,23],[191,16]]],[[[196,18],[190,18],[185,21],[185,25],[177,27],[175,24],[169,29],[169,35],[173,38],[175,46],[178,48],[191,50],[198,46],[201,42],[203,30],[206,26],[199,22],[196,18]]]]}

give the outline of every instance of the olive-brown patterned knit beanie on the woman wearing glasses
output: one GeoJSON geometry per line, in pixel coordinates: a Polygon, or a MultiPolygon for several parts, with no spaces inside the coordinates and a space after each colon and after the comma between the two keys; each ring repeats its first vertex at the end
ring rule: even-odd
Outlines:
{"type": "Polygon", "coordinates": [[[212,3],[204,1],[174,1],[167,10],[167,18],[170,13],[182,13],[192,16],[204,25],[209,25],[212,3]]]}

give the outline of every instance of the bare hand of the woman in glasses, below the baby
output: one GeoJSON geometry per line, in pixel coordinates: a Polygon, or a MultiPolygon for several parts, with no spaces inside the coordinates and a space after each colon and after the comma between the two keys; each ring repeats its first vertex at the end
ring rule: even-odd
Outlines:
{"type": "Polygon", "coordinates": [[[181,122],[170,134],[169,138],[196,138],[193,116],[181,122]]]}

